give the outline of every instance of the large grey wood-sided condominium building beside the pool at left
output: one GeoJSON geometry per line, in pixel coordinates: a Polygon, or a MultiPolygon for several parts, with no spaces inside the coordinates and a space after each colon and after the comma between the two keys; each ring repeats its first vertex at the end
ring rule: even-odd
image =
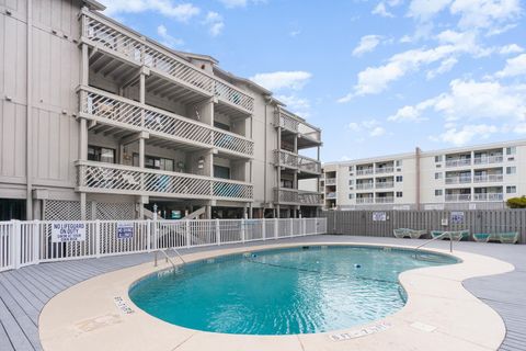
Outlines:
{"type": "Polygon", "coordinates": [[[103,9],[0,3],[0,219],[316,214],[319,128],[103,9]]]}

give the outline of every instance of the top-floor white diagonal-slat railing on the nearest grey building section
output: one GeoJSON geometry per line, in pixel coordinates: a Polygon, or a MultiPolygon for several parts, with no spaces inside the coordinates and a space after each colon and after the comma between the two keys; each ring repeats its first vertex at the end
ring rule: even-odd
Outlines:
{"type": "Polygon", "coordinates": [[[254,99],[239,88],[198,69],[168,49],[117,25],[96,13],[82,11],[82,41],[117,57],[145,65],[191,90],[216,95],[247,113],[253,112],[254,99]]]}

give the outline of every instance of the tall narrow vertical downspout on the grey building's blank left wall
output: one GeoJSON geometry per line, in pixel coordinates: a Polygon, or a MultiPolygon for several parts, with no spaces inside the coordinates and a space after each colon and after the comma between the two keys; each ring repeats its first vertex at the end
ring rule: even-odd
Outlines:
{"type": "Polygon", "coordinates": [[[33,3],[32,0],[27,0],[27,33],[26,33],[26,44],[27,44],[27,61],[26,61],[26,84],[27,84],[27,117],[26,117],[26,149],[25,149],[25,171],[26,171],[26,201],[25,201],[25,216],[27,219],[33,219],[33,155],[32,155],[32,140],[33,140],[33,124],[32,124],[32,110],[33,110],[33,3]]]}

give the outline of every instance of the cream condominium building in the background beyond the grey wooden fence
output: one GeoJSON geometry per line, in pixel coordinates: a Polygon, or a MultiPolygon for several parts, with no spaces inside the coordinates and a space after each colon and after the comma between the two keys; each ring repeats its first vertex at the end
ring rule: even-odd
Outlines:
{"type": "Polygon", "coordinates": [[[328,210],[490,210],[526,195],[526,140],[323,165],[328,210]]]}

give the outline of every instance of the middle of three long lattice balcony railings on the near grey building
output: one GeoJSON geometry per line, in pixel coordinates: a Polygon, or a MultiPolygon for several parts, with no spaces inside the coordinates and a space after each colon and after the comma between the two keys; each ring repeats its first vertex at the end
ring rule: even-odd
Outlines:
{"type": "Polygon", "coordinates": [[[253,155],[254,143],[243,136],[91,87],[80,88],[80,113],[103,124],[146,131],[174,141],[215,147],[243,157],[253,155]]]}

